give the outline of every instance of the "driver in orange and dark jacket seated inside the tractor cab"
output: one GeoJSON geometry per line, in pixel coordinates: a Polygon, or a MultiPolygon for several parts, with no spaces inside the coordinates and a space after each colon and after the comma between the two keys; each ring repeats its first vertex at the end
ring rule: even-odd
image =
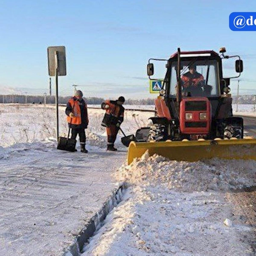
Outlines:
{"type": "Polygon", "coordinates": [[[196,72],[196,66],[190,65],[189,71],[181,76],[181,84],[183,92],[191,92],[192,94],[202,93],[204,85],[204,76],[196,72]]]}

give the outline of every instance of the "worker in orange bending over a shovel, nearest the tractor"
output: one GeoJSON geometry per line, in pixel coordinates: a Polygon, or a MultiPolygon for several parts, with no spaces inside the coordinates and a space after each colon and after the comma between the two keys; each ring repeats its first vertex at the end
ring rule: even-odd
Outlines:
{"type": "Polygon", "coordinates": [[[117,100],[106,100],[102,103],[102,109],[106,110],[102,126],[106,127],[108,135],[108,151],[116,151],[114,143],[116,141],[116,135],[119,127],[124,120],[125,108],[122,106],[125,102],[125,98],[120,96],[117,100]]]}

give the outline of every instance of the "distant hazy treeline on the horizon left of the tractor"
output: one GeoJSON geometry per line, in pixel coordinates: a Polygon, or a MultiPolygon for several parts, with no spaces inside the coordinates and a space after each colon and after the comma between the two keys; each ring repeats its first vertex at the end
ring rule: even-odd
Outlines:
{"type": "MultiPolygon", "coordinates": [[[[58,97],[59,104],[67,104],[70,96],[58,97]]],[[[97,97],[84,97],[88,105],[99,105],[105,100],[97,97]]],[[[20,104],[55,104],[55,96],[31,96],[31,95],[0,95],[0,103],[20,103],[20,104]]],[[[127,105],[154,105],[154,99],[126,99],[127,105]]]]}

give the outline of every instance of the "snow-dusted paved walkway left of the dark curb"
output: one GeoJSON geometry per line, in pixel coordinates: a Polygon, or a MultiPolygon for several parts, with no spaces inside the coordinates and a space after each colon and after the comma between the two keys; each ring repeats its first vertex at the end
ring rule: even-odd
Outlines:
{"type": "Polygon", "coordinates": [[[9,148],[0,161],[0,254],[61,255],[118,187],[111,172],[125,157],[43,143],[9,148]]]}

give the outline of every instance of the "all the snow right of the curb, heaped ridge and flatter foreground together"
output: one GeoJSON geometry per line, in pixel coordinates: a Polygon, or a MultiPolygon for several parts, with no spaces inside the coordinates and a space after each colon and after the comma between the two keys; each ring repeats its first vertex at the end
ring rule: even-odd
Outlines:
{"type": "Polygon", "coordinates": [[[251,256],[253,228],[234,212],[230,189],[255,186],[255,172],[256,161],[189,163],[145,152],[113,174],[127,191],[82,256],[251,256]]]}

